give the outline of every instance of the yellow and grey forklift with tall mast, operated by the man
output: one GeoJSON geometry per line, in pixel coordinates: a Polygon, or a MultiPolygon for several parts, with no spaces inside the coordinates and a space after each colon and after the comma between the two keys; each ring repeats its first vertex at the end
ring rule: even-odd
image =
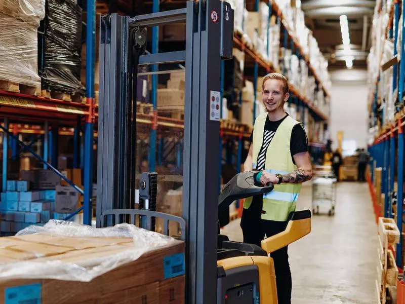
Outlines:
{"type": "MultiPolygon", "coordinates": [[[[113,218],[128,221],[128,215],[137,214],[140,225],[152,231],[154,218],[163,218],[164,233],[169,234],[168,221],[178,222],[185,244],[187,304],[277,303],[269,253],[311,230],[311,214],[305,210],[292,213],[285,231],[263,240],[261,247],[233,242],[219,233],[219,218],[229,221],[233,201],[273,189],[272,184],[262,186],[255,180],[257,172],[247,171],[236,174],[218,191],[219,70],[221,60],[232,58],[232,48],[233,10],[219,0],[188,1],[184,9],[135,17],[111,14],[100,19],[97,226],[116,224],[113,218]],[[186,23],[185,50],[157,52],[153,29],[179,22],[186,23]],[[153,91],[157,89],[153,78],[167,72],[165,66],[179,63],[185,69],[184,129],[176,131],[183,140],[178,168],[183,187],[181,217],[155,211],[157,173],[140,172],[136,163],[138,71],[143,68],[143,74],[151,75],[153,91]]],[[[158,132],[156,97],[152,102],[150,172],[155,171],[158,132]]]]}

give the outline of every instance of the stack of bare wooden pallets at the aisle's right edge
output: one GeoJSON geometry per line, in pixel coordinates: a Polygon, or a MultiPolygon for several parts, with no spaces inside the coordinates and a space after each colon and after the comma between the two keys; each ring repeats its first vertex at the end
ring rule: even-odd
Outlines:
{"type": "Polygon", "coordinates": [[[398,278],[393,248],[399,243],[400,235],[392,218],[378,219],[378,236],[376,296],[379,303],[385,304],[392,301],[398,278]]]}

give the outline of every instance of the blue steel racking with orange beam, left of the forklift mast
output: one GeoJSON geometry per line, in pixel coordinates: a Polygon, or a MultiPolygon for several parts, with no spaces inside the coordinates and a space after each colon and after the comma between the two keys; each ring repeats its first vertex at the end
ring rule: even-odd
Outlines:
{"type": "MultiPolygon", "coordinates": [[[[0,91],[0,105],[4,118],[4,124],[0,125],[3,130],[3,189],[7,184],[7,161],[8,141],[12,139],[18,142],[23,149],[29,151],[39,161],[44,163],[44,169],[51,169],[68,184],[84,195],[84,204],[65,219],[69,219],[83,210],[83,223],[91,225],[92,219],[92,192],[93,192],[93,140],[94,140],[94,69],[95,69],[95,32],[96,32],[96,1],[87,0],[87,22],[86,22],[86,104],[75,104],[62,100],[36,97],[25,94],[0,91]],[[80,135],[79,126],[81,118],[85,118],[85,139],[84,139],[84,189],[75,185],[71,180],[62,175],[57,169],[57,143],[59,136],[58,128],[49,130],[49,123],[61,125],[75,125],[74,131],[74,167],[79,166],[80,135]],[[29,124],[44,125],[44,151],[43,156],[36,154],[29,145],[24,144],[9,129],[10,121],[25,121],[29,124]],[[48,160],[51,159],[51,163],[48,160]]],[[[13,152],[14,154],[14,152],[13,152]]]]}

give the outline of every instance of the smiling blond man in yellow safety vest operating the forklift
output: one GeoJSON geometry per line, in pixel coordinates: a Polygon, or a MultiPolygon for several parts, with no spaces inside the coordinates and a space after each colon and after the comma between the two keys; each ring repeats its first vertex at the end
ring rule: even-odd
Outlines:
{"type": "MultiPolygon", "coordinates": [[[[295,211],[301,183],[312,177],[308,139],[302,125],[284,111],[290,97],[287,78],[270,73],[263,78],[263,104],[267,112],[255,121],[245,171],[259,170],[263,185],[274,183],[272,192],[248,198],[240,226],[244,242],[261,245],[264,236],[284,231],[295,211]]],[[[291,271],[288,247],[272,252],[278,302],[291,303],[291,271]]]]}

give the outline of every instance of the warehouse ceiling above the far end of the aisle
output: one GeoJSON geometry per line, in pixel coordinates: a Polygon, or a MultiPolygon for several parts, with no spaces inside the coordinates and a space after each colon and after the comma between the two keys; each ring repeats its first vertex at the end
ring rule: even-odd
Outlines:
{"type": "Polygon", "coordinates": [[[301,0],[305,23],[329,60],[330,69],[345,66],[348,56],[355,58],[354,67],[366,67],[375,6],[375,0],[301,0]],[[348,20],[350,52],[345,51],[342,44],[342,15],[348,20]]]}

